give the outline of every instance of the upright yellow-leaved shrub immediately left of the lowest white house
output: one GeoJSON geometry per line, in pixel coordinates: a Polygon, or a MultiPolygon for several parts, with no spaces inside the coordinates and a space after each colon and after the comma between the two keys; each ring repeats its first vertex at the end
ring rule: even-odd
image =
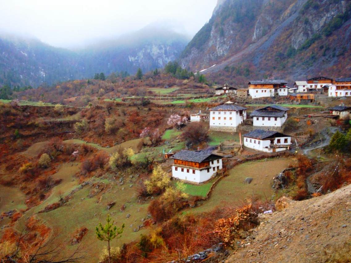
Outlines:
{"type": "Polygon", "coordinates": [[[160,166],[153,169],[150,180],[145,181],[148,194],[161,193],[170,183],[171,179],[160,166]]]}

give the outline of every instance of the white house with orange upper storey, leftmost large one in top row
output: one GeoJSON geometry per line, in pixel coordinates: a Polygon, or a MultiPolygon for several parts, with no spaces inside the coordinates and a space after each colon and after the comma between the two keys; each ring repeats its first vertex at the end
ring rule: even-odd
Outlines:
{"type": "Polygon", "coordinates": [[[252,80],[249,82],[249,94],[252,99],[261,97],[287,96],[285,80],[252,80]]]}

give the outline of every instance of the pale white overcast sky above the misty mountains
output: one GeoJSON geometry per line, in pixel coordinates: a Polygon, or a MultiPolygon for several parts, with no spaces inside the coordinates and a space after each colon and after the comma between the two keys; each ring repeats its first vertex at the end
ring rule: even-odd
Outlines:
{"type": "Polygon", "coordinates": [[[0,31],[79,47],[160,22],[193,36],[217,0],[0,0],[0,31]]]}

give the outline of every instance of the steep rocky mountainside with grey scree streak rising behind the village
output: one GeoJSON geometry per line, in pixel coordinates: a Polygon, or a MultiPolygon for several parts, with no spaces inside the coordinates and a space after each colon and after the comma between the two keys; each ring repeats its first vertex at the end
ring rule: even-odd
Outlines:
{"type": "Polygon", "coordinates": [[[350,76],[350,18],[346,0],[218,0],[180,62],[231,84],[350,76]]]}

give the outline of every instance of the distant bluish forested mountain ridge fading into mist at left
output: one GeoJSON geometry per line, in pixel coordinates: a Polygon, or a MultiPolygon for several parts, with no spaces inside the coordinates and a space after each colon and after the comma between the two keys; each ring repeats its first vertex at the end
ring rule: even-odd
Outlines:
{"type": "Polygon", "coordinates": [[[52,84],[91,78],[97,72],[134,74],[176,60],[189,39],[166,29],[145,27],[83,50],[49,46],[38,39],[0,35],[0,86],[52,84]]]}

